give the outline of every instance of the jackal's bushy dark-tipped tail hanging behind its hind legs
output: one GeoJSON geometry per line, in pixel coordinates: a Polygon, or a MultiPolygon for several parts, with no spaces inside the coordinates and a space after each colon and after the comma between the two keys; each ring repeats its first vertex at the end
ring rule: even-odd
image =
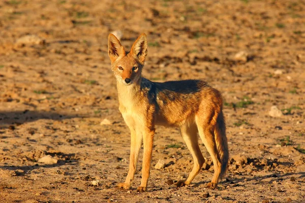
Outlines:
{"type": "Polygon", "coordinates": [[[220,173],[220,178],[222,179],[226,173],[227,165],[229,161],[229,149],[228,149],[228,141],[226,136],[226,123],[222,110],[218,115],[214,133],[215,133],[217,151],[222,164],[221,173],[220,173]]]}

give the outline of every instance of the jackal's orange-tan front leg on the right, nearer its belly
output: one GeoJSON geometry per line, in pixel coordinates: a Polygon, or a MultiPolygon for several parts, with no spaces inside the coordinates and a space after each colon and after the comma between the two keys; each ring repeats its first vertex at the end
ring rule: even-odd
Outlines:
{"type": "Polygon", "coordinates": [[[142,163],[142,180],[138,192],[145,192],[147,190],[147,181],[149,178],[151,154],[153,153],[155,129],[146,128],[143,130],[143,163],[142,163]]]}

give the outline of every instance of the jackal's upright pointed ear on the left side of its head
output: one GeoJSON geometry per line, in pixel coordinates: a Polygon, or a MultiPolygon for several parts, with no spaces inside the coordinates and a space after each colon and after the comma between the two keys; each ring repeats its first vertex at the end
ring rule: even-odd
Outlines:
{"type": "Polygon", "coordinates": [[[109,34],[108,37],[108,55],[110,57],[111,63],[113,63],[118,57],[125,56],[124,47],[112,34],[109,34]]]}

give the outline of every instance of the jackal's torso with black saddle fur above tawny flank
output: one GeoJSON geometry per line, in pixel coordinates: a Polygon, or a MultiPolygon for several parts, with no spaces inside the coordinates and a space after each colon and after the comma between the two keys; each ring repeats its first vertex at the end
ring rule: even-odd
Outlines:
{"type": "MultiPolygon", "coordinates": [[[[146,79],[144,79],[146,80],[146,79]]],[[[176,125],[196,115],[201,105],[222,106],[219,91],[201,80],[150,82],[148,97],[156,105],[156,122],[160,125],[176,125]]]]}

